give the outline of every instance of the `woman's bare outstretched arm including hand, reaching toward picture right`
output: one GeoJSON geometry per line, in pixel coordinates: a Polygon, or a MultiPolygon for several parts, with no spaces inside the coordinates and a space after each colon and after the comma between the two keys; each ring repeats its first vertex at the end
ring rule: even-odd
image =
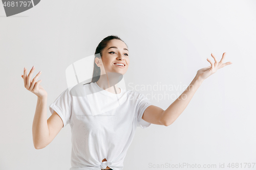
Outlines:
{"type": "Polygon", "coordinates": [[[226,53],[223,53],[221,61],[218,62],[216,57],[211,54],[215,60],[215,63],[207,58],[207,61],[211,64],[211,66],[199,69],[197,71],[196,77],[189,84],[186,90],[179,96],[178,99],[176,99],[166,110],[153,105],[147,107],[144,111],[142,119],[152,124],[164,126],[169,126],[174,123],[179,115],[185,110],[202,82],[210,75],[214,74],[218,69],[232,64],[231,62],[223,63],[225,55],[226,53]]]}

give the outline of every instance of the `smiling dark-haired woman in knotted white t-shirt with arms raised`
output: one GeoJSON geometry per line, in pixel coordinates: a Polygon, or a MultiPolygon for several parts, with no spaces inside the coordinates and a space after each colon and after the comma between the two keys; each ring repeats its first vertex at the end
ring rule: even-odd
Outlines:
{"type": "MultiPolygon", "coordinates": [[[[231,64],[231,62],[223,63],[225,53],[220,62],[211,54],[215,63],[207,58],[211,66],[199,69],[187,89],[166,110],[163,110],[152,105],[143,94],[117,88],[116,84],[111,83],[117,77],[111,77],[110,72],[124,75],[130,64],[127,45],[119,37],[112,35],[104,38],[97,46],[95,54],[100,54],[101,58],[95,55],[92,82],[84,84],[83,88],[99,91],[100,93],[97,94],[100,97],[93,98],[97,102],[104,97],[114,100],[121,99],[125,95],[127,98],[120,106],[96,116],[92,115],[94,108],[90,106],[92,100],[89,95],[82,98],[73,96],[69,89],[66,89],[49,106],[52,115],[47,119],[47,92],[39,84],[41,80],[36,82],[41,71],[31,81],[34,66],[28,76],[24,68],[25,88],[38,96],[32,127],[34,147],[45,148],[61,128],[70,124],[72,129],[70,169],[121,170],[137,126],[146,128],[151,124],[171,125],[186,108],[203,80],[219,68],[231,64]]],[[[104,102],[109,100],[101,104],[103,105],[104,102]]]]}

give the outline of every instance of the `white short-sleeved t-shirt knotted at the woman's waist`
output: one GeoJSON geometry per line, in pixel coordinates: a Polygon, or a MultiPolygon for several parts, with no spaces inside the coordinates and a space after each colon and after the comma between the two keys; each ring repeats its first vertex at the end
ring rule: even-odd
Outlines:
{"type": "MultiPolygon", "coordinates": [[[[146,128],[151,125],[142,119],[142,115],[152,103],[143,94],[123,88],[120,88],[120,93],[114,94],[103,90],[96,82],[80,87],[88,95],[73,95],[72,90],[69,91],[67,88],[49,106],[51,113],[56,111],[61,117],[63,127],[67,124],[71,127],[70,170],[100,170],[106,166],[114,170],[123,169],[124,157],[134,138],[136,128],[138,126],[146,128]],[[100,106],[103,112],[109,111],[93,115],[92,110],[97,111],[97,109],[94,108],[95,103],[89,102],[91,95],[88,91],[99,91],[97,94],[100,98],[104,96],[109,100],[119,99],[120,105],[112,110],[100,106]],[[124,96],[125,101],[121,100],[124,96]],[[107,161],[102,162],[104,158],[107,161]]],[[[100,101],[96,95],[92,99],[100,101]]]]}

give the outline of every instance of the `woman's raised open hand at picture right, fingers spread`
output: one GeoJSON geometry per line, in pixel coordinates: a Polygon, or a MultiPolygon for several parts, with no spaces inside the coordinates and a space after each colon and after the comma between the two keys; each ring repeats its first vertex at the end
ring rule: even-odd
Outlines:
{"type": "Polygon", "coordinates": [[[210,59],[207,58],[207,61],[210,63],[211,66],[199,69],[197,71],[197,77],[200,78],[201,80],[205,80],[207,77],[214,74],[218,69],[226,65],[232,64],[231,62],[223,63],[225,56],[226,56],[226,53],[223,53],[221,61],[218,62],[216,57],[211,53],[211,57],[214,58],[215,63],[213,63],[210,59]]]}

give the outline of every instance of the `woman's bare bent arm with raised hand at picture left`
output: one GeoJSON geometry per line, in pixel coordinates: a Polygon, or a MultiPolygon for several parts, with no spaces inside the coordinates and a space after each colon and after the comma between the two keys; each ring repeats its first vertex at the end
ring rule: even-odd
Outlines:
{"type": "Polygon", "coordinates": [[[45,148],[58,134],[63,127],[62,119],[54,111],[54,113],[47,119],[47,92],[39,84],[42,80],[36,82],[41,74],[41,71],[31,81],[32,74],[35,70],[33,66],[27,76],[27,69],[24,67],[24,87],[37,95],[36,110],[32,125],[33,143],[35,149],[45,148]]]}

